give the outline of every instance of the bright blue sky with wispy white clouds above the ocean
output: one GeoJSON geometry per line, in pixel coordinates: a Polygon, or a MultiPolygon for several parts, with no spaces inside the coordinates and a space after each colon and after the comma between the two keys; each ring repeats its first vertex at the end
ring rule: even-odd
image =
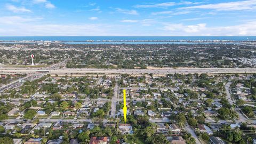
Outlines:
{"type": "Polygon", "coordinates": [[[256,0],[0,0],[0,36],[256,36],[256,0]]]}

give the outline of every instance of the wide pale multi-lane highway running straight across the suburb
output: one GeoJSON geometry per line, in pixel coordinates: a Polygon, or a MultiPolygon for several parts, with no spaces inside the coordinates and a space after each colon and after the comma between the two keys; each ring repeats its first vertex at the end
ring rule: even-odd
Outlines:
{"type": "Polygon", "coordinates": [[[189,73],[256,73],[256,68],[154,68],[154,69],[97,69],[97,68],[0,68],[0,73],[51,74],[189,74],[189,73]]]}

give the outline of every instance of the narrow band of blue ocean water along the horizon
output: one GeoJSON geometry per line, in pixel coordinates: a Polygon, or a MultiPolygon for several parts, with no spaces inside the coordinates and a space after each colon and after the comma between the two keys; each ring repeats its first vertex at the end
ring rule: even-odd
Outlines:
{"type": "MultiPolygon", "coordinates": [[[[122,43],[187,44],[188,42],[186,41],[210,41],[210,40],[256,41],[256,36],[0,36],[0,41],[62,41],[63,43],[66,43],[66,44],[122,44],[122,43]],[[93,41],[93,42],[85,42],[85,41],[93,41]],[[132,41],[137,41],[137,42],[132,42],[132,41]],[[138,41],[158,41],[158,42],[138,42],[138,41]],[[164,42],[160,42],[160,41],[164,41],[164,42]],[[183,42],[166,42],[166,41],[183,41],[183,42]]],[[[2,42],[2,43],[6,43],[6,42],[2,42]]],[[[194,43],[189,42],[189,44],[194,44],[194,43]]]]}

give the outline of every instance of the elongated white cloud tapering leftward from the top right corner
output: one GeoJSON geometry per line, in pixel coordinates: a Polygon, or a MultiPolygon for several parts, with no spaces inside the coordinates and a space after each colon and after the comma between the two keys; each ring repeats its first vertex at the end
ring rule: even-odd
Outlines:
{"type": "Polygon", "coordinates": [[[188,6],[179,9],[210,9],[217,11],[256,10],[256,0],[188,6]]]}

